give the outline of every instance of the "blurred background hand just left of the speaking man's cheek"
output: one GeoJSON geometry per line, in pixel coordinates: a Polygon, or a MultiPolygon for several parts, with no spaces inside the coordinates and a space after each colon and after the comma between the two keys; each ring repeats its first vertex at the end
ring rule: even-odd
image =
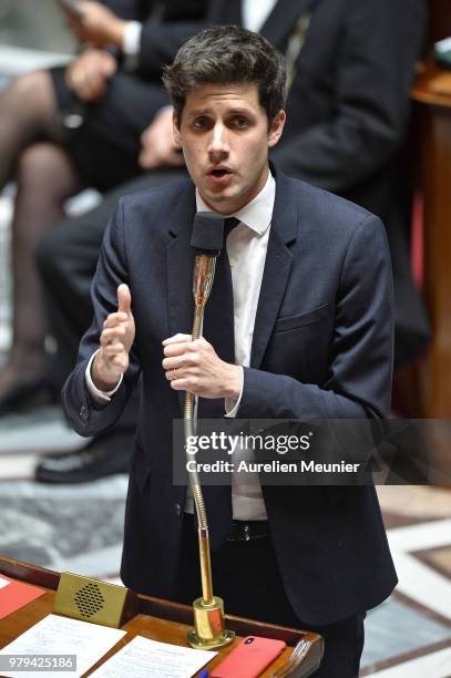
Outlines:
{"type": "Polygon", "coordinates": [[[174,140],[172,106],[162,109],[141,135],[140,165],[143,170],[181,167],[184,157],[174,140]]]}

